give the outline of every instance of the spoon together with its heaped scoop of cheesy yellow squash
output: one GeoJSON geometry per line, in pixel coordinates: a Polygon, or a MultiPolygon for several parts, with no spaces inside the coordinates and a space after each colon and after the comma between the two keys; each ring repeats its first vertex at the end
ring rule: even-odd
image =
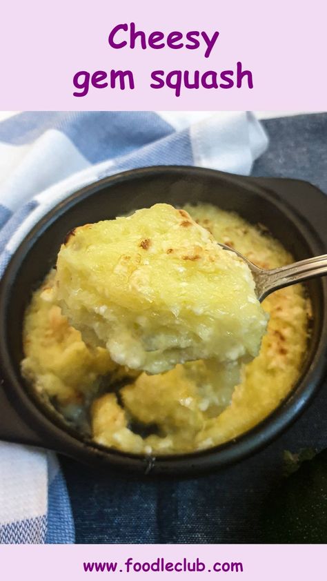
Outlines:
{"type": "Polygon", "coordinates": [[[318,274],[304,262],[261,270],[185,210],[155,204],[75,228],[59,251],[54,292],[90,346],[154,374],[192,360],[251,360],[268,322],[261,300],[294,276],[326,273],[326,257],[318,274]]]}

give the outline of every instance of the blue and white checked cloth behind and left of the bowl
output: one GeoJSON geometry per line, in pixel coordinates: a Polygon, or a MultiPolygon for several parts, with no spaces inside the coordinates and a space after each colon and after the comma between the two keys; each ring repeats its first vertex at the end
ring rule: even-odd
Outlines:
{"type": "MultiPolygon", "coordinates": [[[[248,174],[268,139],[246,112],[25,112],[0,123],[0,275],[30,228],[92,181],[153,165],[248,174]]],[[[0,542],[72,543],[54,454],[0,442],[0,542]]]]}

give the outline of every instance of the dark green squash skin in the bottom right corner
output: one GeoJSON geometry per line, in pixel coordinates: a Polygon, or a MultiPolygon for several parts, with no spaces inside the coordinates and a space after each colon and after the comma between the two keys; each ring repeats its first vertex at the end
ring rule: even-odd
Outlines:
{"type": "Polygon", "coordinates": [[[263,542],[327,542],[327,449],[271,491],[263,512],[263,542]]]}

